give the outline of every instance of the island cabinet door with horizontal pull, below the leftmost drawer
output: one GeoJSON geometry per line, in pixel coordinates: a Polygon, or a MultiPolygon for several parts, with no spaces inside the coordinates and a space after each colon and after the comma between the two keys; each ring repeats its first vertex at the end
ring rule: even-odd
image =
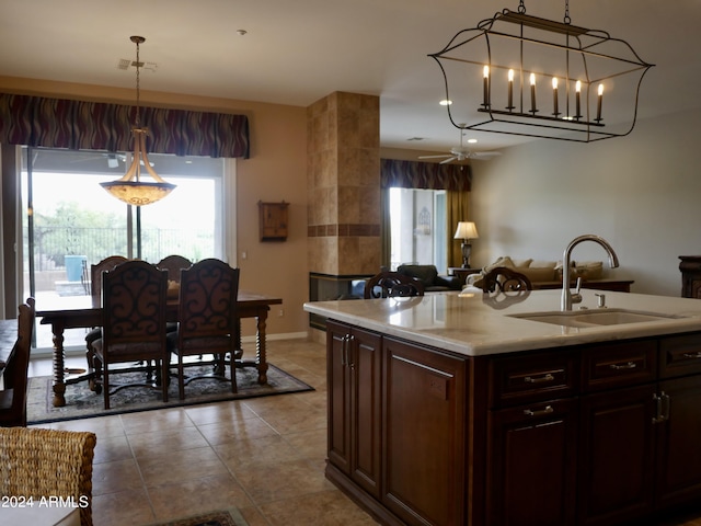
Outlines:
{"type": "Polygon", "coordinates": [[[490,411],[489,525],[575,524],[577,405],[564,399],[490,411]]]}

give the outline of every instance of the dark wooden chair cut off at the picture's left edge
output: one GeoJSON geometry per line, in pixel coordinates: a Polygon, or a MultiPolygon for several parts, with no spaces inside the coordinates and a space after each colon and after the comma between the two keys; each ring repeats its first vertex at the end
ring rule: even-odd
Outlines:
{"type": "Polygon", "coordinates": [[[0,427],[26,427],[26,389],[32,333],[34,332],[34,298],[19,306],[18,339],[2,373],[0,391],[0,427]]]}

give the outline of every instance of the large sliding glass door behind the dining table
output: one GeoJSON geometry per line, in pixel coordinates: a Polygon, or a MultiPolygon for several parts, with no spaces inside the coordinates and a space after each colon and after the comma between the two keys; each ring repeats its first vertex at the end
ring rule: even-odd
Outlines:
{"type": "MultiPolygon", "coordinates": [[[[225,160],[150,155],[177,187],[128,206],[99,183],[120,178],[129,153],[25,148],[22,167],[24,290],[37,309],[89,305],[90,265],[108,255],[157,263],[225,258],[225,160]]],[[[37,346],[50,346],[50,336],[37,346]]]]}

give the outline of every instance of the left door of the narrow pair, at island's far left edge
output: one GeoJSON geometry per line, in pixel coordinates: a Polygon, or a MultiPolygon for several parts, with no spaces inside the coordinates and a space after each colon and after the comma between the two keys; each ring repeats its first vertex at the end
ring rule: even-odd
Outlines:
{"type": "Polygon", "coordinates": [[[350,328],[326,322],[326,378],[329,379],[329,461],[350,472],[350,368],[347,340],[350,328]]]}

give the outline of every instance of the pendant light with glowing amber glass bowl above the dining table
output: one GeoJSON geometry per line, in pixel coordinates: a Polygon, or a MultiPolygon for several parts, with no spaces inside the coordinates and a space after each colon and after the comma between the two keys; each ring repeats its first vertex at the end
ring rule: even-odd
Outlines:
{"type": "Polygon", "coordinates": [[[175,185],[166,183],[156,173],[146,152],[146,136],[149,130],[146,127],[141,127],[141,108],[139,105],[139,68],[142,66],[139,61],[139,44],[146,42],[146,38],[133,36],[131,42],[136,44],[136,62],[134,62],[136,66],[136,125],[131,128],[134,158],[131,159],[131,165],[122,179],[110,183],[100,183],[100,185],[117,199],[128,205],[143,206],[162,199],[175,188],[175,185]],[[146,169],[153,182],[141,179],[142,169],[146,169]]]}

